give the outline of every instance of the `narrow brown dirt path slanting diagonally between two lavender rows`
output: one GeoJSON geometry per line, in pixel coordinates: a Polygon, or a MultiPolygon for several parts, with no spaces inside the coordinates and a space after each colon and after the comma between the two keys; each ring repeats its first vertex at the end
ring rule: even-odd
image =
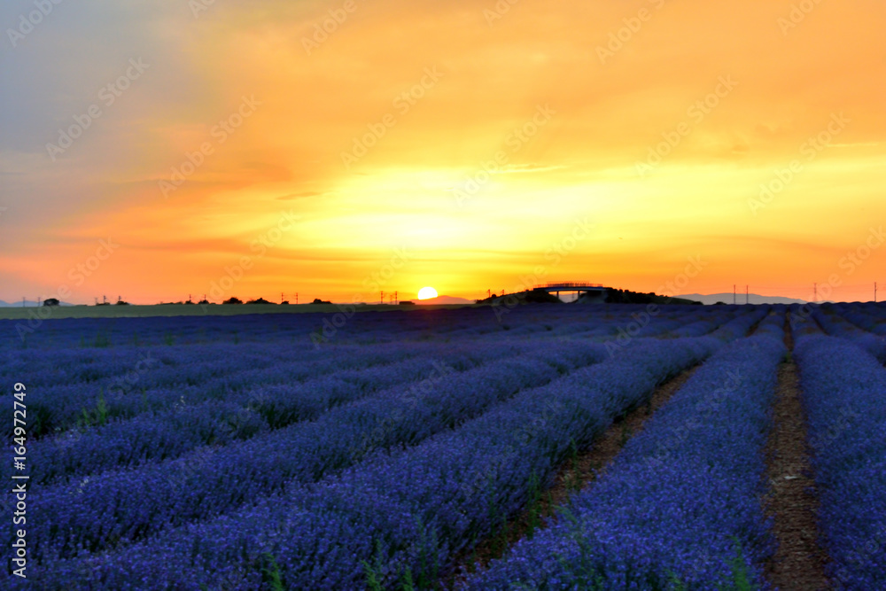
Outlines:
{"type": "Polygon", "coordinates": [[[479,563],[485,567],[495,558],[506,554],[518,540],[528,537],[538,528],[544,518],[553,516],[558,507],[565,505],[571,493],[602,475],[627,440],[642,430],[647,419],[671,399],[673,393],[686,383],[698,367],[687,369],[658,386],[647,404],[634,408],[625,416],[616,419],[609,429],[594,440],[589,449],[579,451],[564,462],[557,473],[556,484],[544,491],[538,502],[532,503],[531,507],[513,517],[501,533],[480,540],[473,551],[456,558],[455,568],[446,579],[447,588],[455,587],[455,581],[460,579],[458,573],[463,572],[465,568],[472,572],[474,564],[479,563]]]}

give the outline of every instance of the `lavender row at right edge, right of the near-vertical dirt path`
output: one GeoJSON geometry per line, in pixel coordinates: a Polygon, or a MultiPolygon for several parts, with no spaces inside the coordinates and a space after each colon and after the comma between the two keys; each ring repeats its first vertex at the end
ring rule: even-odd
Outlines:
{"type": "Polygon", "coordinates": [[[842,338],[797,339],[828,574],[886,588],[886,370],[842,338]]]}

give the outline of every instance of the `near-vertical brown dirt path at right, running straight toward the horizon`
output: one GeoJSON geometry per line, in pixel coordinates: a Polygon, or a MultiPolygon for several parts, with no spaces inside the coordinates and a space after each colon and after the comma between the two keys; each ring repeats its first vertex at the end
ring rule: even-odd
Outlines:
{"type": "MultiPolygon", "coordinates": [[[[789,322],[785,323],[785,345],[793,351],[789,322]]],[[[782,363],[779,369],[773,415],[773,431],[766,447],[770,489],[764,505],[766,515],[773,518],[778,548],[767,565],[767,575],[773,587],[781,591],[831,589],[824,572],[828,556],[818,545],[819,504],[793,360],[782,363]]]]}

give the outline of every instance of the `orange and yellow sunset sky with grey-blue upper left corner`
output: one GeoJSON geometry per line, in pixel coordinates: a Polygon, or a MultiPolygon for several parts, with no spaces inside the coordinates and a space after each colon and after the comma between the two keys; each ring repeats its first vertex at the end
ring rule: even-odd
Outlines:
{"type": "Polygon", "coordinates": [[[0,14],[6,301],[886,297],[882,0],[0,14]]]}

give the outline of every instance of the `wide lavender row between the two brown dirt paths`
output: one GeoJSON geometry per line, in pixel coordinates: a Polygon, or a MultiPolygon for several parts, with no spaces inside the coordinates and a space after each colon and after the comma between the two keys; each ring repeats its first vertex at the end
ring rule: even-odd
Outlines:
{"type": "Polygon", "coordinates": [[[556,525],[467,589],[765,587],[766,427],[786,353],[774,315],[696,371],[556,525]],[[743,584],[743,586],[742,586],[743,584]]]}

